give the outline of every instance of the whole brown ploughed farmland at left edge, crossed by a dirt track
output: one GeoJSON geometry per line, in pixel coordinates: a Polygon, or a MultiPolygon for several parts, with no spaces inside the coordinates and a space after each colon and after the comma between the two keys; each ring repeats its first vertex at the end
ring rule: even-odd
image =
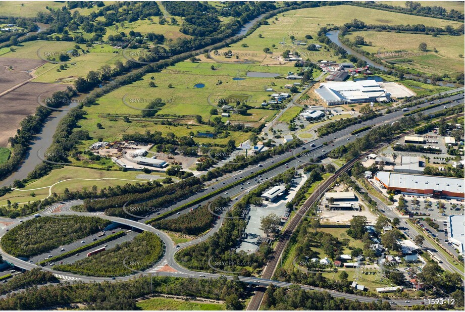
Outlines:
{"type": "Polygon", "coordinates": [[[20,122],[35,113],[41,98],[65,90],[66,85],[29,82],[30,72],[42,65],[42,60],[0,58],[0,146],[6,147],[8,138],[16,134],[20,122]]]}

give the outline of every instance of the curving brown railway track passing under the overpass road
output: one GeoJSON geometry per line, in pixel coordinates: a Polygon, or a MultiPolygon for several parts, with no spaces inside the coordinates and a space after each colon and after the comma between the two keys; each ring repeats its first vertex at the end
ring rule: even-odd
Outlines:
{"type": "MultiPolygon", "coordinates": [[[[291,219],[284,233],[279,238],[278,244],[276,245],[276,248],[275,248],[274,257],[269,261],[267,267],[265,268],[265,271],[263,272],[263,275],[262,275],[263,279],[270,280],[273,277],[273,274],[279,263],[279,259],[281,258],[282,253],[285,250],[287,243],[289,242],[289,239],[291,238],[295,229],[297,229],[297,226],[299,225],[303,216],[308,212],[308,210],[312,207],[312,205],[320,198],[320,195],[326,189],[328,189],[331,186],[331,184],[333,184],[333,182],[336,181],[336,179],[343,172],[346,172],[348,169],[350,169],[355,164],[355,162],[357,162],[360,159],[363,159],[364,157],[365,157],[365,154],[361,155],[358,158],[352,159],[347,164],[339,168],[339,170],[337,170],[334,175],[332,175],[329,179],[327,179],[322,184],[320,184],[320,186],[313,192],[313,194],[310,195],[307,198],[307,200],[305,200],[303,205],[300,207],[300,209],[291,219]]],[[[265,291],[266,291],[265,287],[260,287],[259,289],[255,291],[255,294],[250,300],[247,310],[258,310],[260,308],[265,291]]]]}

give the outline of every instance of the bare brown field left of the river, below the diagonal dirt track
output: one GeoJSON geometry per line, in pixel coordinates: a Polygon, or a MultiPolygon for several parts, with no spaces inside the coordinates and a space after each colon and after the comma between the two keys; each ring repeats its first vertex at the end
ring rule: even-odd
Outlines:
{"type": "MultiPolygon", "coordinates": [[[[28,75],[24,72],[23,74],[28,75]]],[[[9,78],[11,79],[11,77],[9,78]]],[[[3,88],[3,80],[0,80],[0,82],[3,88]]],[[[18,83],[21,83],[21,81],[17,80],[16,84],[18,83]]],[[[39,106],[37,103],[39,94],[45,93],[43,97],[46,97],[56,91],[65,89],[66,85],[63,84],[27,82],[17,89],[0,96],[0,146],[6,147],[8,138],[15,135],[20,122],[27,115],[35,113],[36,108],[39,106]]]]}

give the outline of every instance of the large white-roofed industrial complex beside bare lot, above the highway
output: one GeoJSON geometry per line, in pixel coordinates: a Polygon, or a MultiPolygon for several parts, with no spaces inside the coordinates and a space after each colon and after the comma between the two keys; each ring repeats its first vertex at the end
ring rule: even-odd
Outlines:
{"type": "Polygon", "coordinates": [[[315,93],[328,105],[387,101],[391,97],[375,80],[325,82],[315,93]]]}

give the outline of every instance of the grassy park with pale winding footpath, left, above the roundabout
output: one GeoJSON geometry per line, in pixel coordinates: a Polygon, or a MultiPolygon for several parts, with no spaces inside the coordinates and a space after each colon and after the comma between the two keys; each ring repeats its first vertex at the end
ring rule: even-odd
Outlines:
{"type": "MultiPolygon", "coordinates": [[[[141,174],[137,171],[106,171],[106,170],[96,170],[89,168],[80,168],[67,166],[61,169],[55,169],[39,180],[36,180],[32,183],[26,185],[26,187],[21,190],[15,190],[11,193],[8,193],[0,197],[0,205],[7,204],[9,199],[12,203],[14,202],[28,202],[38,199],[43,199],[49,194],[49,187],[57,182],[55,186],[51,188],[52,193],[63,194],[65,189],[68,188],[70,191],[91,189],[93,185],[97,186],[97,189],[100,190],[104,187],[115,187],[117,185],[124,185],[126,183],[135,183],[137,181],[144,183],[147,180],[137,179],[136,176],[141,174]],[[91,181],[95,179],[104,179],[91,181]],[[69,180],[69,179],[79,179],[79,180],[69,180]],[[80,180],[80,179],[89,179],[89,180],[80,180]],[[120,180],[118,180],[120,179],[120,180]],[[67,180],[67,181],[66,181],[67,180]],[[46,188],[43,188],[46,187],[46,188]],[[40,188],[40,189],[36,189],[40,188]],[[36,190],[34,190],[36,189],[36,190]],[[31,196],[31,192],[35,193],[35,196],[31,196]]],[[[163,173],[156,173],[154,175],[159,175],[162,178],[165,178],[166,175],[163,173]]]]}

